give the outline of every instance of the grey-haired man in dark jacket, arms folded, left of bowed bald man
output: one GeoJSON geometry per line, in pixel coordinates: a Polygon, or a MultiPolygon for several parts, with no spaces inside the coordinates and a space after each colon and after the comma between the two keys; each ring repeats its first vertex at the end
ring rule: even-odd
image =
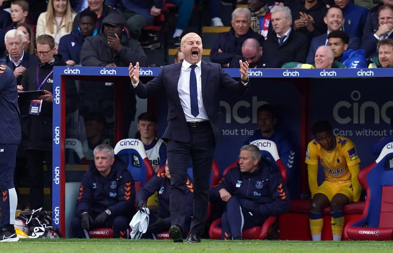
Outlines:
{"type": "MultiPolygon", "coordinates": [[[[251,12],[247,8],[237,8],[232,12],[231,26],[228,32],[219,33],[210,51],[211,62],[221,64],[222,67],[232,67],[232,59],[242,55],[242,45],[246,39],[254,38],[260,46],[265,40],[250,28],[251,12]]],[[[235,66],[238,65],[239,60],[235,66]]]]}

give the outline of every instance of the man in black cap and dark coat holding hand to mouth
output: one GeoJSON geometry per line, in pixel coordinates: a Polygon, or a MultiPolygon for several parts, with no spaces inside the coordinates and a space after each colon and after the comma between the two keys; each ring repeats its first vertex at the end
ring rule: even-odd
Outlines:
{"type": "Polygon", "coordinates": [[[127,67],[130,62],[149,66],[141,44],[130,38],[123,27],[125,19],[116,13],[106,16],[99,36],[86,38],[81,49],[83,66],[127,67]]]}

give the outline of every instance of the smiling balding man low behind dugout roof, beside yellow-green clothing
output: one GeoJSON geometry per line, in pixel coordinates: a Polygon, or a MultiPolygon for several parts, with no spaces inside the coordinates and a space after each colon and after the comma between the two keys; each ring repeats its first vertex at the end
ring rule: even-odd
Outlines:
{"type": "Polygon", "coordinates": [[[320,46],[315,52],[314,64],[303,64],[301,62],[288,62],[283,69],[345,69],[345,65],[334,60],[334,54],[329,46],[320,46]]]}

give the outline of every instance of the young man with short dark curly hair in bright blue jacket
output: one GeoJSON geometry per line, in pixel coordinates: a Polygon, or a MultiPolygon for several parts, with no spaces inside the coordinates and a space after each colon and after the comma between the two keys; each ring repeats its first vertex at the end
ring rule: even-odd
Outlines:
{"type": "Polygon", "coordinates": [[[327,45],[331,47],[334,60],[345,65],[346,68],[367,67],[365,51],[348,48],[349,35],[344,31],[332,31],[327,36],[327,45]]]}

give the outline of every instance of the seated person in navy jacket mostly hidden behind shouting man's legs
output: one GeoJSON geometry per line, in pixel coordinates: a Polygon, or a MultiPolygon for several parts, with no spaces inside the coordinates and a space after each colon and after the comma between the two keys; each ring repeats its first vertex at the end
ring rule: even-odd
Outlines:
{"type": "MultiPolygon", "coordinates": [[[[185,193],[185,226],[183,228],[183,237],[187,238],[187,234],[191,226],[191,217],[193,216],[193,182],[188,176],[185,193]]],[[[171,227],[171,213],[169,211],[169,188],[171,187],[171,174],[169,173],[168,160],[165,162],[165,172],[158,172],[155,177],[150,178],[149,181],[142,187],[137,195],[138,208],[143,211],[143,207],[147,206],[146,200],[158,191],[158,211],[149,209],[149,226],[143,238],[151,238],[151,233],[160,233],[168,231],[171,227]]]]}

